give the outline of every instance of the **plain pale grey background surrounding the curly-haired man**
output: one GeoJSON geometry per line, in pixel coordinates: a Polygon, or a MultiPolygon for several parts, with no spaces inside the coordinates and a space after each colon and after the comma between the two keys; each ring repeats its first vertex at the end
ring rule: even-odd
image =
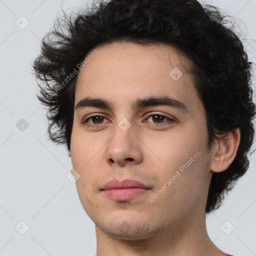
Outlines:
{"type": "MultiPolygon", "coordinates": [[[[64,147],[46,139],[45,110],[35,96],[31,63],[61,6],[85,1],[0,0],[0,255],[93,255],[94,223],[84,212],[64,147]],[[24,18],[20,18],[20,16],[24,18]],[[29,24],[21,29],[19,26],[29,24]],[[25,120],[20,120],[23,118],[25,120]],[[24,123],[27,123],[28,126],[24,123]],[[24,124],[24,126],[22,126],[24,124]],[[23,129],[23,130],[20,130],[23,129]],[[25,231],[25,224],[29,229],[25,231]]],[[[202,2],[202,1],[201,1],[202,2]]],[[[256,0],[203,1],[239,18],[244,45],[255,62],[256,0]]],[[[253,146],[253,148],[255,145],[253,146]]],[[[235,256],[256,255],[256,152],[247,173],[206,219],[212,241],[235,256]],[[233,230],[232,230],[233,228],[233,230]]]]}

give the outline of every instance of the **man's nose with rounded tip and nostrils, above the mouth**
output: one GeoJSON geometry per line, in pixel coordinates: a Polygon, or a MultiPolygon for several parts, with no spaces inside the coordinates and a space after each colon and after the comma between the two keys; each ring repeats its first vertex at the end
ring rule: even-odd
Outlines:
{"type": "Polygon", "coordinates": [[[125,166],[142,161],[142,145],[132,125],[122,130],[118,125],[106,145],[105,160],[109,165],[125,166]]]}

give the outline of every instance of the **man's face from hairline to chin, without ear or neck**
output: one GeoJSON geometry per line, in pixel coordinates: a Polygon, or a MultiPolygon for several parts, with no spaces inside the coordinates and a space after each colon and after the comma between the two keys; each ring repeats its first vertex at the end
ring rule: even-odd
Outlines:
{"type": "Polygon", "coordinates": [[[212,153],[189,59],[163,44],[97,50],[78,73],[70,145],[84,210],[123,239],[204,216],[212,153]]]}

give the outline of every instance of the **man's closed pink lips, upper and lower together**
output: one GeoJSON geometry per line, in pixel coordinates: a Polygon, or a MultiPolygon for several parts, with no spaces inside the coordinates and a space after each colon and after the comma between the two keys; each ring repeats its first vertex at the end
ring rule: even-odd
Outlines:
{"type": "Polygon", "coordinates": [[[108,181],[103,187],[102,192],[107,197],[114,200],[131,200],[139,195],[146,193],[151,188],[147,185],[132,179],[108,181]]]}

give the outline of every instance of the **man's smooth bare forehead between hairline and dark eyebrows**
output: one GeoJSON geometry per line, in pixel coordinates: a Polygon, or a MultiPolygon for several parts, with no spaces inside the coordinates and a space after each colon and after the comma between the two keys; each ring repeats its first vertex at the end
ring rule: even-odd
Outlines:
{"type": "Polygon", "coordinates": [[[187,103],[198,100],[189,71],[192,63],[176,48],[114,42],[96,49],[78,73],[75,104],[85,96],[120,103],[138,95],[169,95],[187,103]]]}

